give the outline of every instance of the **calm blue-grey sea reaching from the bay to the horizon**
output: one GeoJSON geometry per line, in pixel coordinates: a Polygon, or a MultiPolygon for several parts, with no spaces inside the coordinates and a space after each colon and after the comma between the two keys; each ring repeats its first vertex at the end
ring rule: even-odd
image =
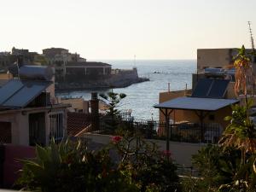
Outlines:
{"type": "MultiPolygon", "coordinates": [[[[119,109],[131,109],[136,119],[159,119],[159,110],[154,108],[159,103],[160,92],[168,90],[184,90],[192,87],[192,73],[196,72],[196,60],[112,60],[102,61],[112,68],[127,69],[137,67],[140,77],[150,80],[131,84],[125,88],[113,89],[116,93],[125,93],[126,97],[119,103],[119,109]]],[[[90,100],[91,92],[107,93],[111,90],[72,90],[56,93],[57,96],[90,100]]]]}

